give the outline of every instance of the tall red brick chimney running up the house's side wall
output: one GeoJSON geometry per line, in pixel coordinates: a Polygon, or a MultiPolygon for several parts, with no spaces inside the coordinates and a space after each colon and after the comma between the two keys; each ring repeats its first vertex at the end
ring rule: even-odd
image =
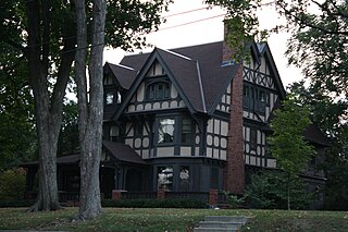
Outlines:
{"type": "MultiPolygon", "coordinates": [[[[226,25],[224,26],[226,35],[226,25]]],[[[233,50],[223,45],[223,62],[232,60],[233,50]]],[[[227,138],[227,164],[224,169],[224,188],[234,194],[243,194],[245,188],[245,161],[243,136],[243,64],[238,65],[231,83],[231,111],[227,138]]]]}

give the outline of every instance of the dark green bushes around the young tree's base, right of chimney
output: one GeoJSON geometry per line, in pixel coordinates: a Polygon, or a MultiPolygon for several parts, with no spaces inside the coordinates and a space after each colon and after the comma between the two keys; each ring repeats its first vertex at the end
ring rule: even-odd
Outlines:
{"type": "MultiPolygon", "coordinates": [[[[245,196],[247,205],[258,209],[286,209],[288,175],[279,171],[262,171],[251,175],[245,196]]],[[[307,209],[312,194],[304,191],[300,179],[293,179],[290,188],[293,209],[307,209]]]]}

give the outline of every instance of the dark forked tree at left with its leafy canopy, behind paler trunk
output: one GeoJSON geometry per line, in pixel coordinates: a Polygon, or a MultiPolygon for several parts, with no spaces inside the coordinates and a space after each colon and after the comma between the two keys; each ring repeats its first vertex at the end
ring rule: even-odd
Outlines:
{"type": "MultiPolygon", "coordinates": [[[[167,2],[109,0],[107,4],[112,7],[104,30],[105,45],[127,49],[142,46],[144,33],[161,23],[160,13],[167,2]]],[[[60,208],[58,138],[63,98],[76,53],[75,4],[72,1],[3,0],[0,9],[0,44],[15,49],[20,53],[15,59],[25,58],[28,62],[28,82],[35,102],[39,193],[32,210],[55,210],[60,208]]],[[[87,33],[90,37],[90,32],[87,33]]]]}

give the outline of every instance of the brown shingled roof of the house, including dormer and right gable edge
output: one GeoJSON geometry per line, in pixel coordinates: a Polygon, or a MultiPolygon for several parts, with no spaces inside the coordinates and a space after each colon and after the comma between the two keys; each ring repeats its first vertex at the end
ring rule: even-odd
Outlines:
{"type": "MultiPolygon", "coordinates": [[[[119,83],[130,89],[136,83],[140,84],[137,80],[145,75],[141,71],[149,65],[151,58],[156,57],[162,66],[166,68],[170,77],[174,78],[173,84],[178,86],[177,90],[184,100],[186,99],[188,108],[194,113],[212,114],[239,66],[234,62],[224,64],[223,46],[223,41],[216,41],[170,50],[156,48],[150,53],[126,56],[120,64],[108,65],[119,83]]],[[[269,46],[251,42],[251,50],[256,58],[265,56],[270,60],[283,99],[285,90],[269,46]]]]}

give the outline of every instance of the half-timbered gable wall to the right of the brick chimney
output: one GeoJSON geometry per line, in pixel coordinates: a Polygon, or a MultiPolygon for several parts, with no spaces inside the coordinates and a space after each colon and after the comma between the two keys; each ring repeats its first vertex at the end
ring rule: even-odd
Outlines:
{"type": "Polygon", "coordinates": [[[244,152],[246,164],[276,168],[269,156],[266,136],[269,120],[285,90],[266,44],[251,46],[249,61],[243,71],[244,152]]]}

